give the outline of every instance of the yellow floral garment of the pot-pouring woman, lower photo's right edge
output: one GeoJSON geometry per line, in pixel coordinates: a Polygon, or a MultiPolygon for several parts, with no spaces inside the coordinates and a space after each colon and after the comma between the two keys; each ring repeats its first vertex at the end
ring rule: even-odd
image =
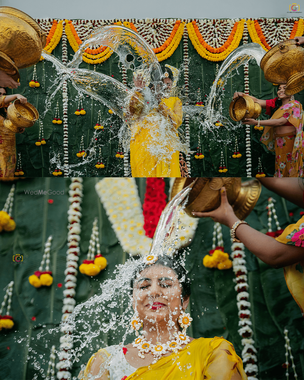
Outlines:
{"type": "Polygon", "coordinates": [[[275,240],[284,243],[303,247],[303,260],[298,263],[285,266],[284,276],[287,287],[296,303],[299,305],[304,317],[304,216],[295,224],[290,224],[282,234],[275,240]]]}

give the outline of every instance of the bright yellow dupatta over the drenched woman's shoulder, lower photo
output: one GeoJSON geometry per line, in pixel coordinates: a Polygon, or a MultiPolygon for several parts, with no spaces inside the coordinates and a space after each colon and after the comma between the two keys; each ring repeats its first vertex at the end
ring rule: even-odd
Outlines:
{"type": "Polygon", "coordinates": [[[184,349],[138,368],[125,380],[246,380],[233,345],[219,337],[194,339],[184,349]]]}

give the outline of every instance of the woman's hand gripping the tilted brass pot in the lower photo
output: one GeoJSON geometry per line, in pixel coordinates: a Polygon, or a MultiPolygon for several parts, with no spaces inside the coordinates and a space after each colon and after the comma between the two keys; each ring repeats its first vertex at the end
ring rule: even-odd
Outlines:
{"type": "Polygon", "coordinates": [[[219,222],[231,228],[233,224],[239,219],[234,214],[233,208],[228,202],[225,187],[221,187],[220,194],[221,205],[216,210],[209,212],[192,212],[192,214],[203,218],[211,217],[214,222],[219,222]]]}

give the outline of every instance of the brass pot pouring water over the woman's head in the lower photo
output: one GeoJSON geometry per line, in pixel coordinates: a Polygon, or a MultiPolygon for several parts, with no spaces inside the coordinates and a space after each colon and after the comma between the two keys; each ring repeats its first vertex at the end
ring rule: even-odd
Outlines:
{"type": "MultiPolygon", "coordinates": [[[[176,178],[171,198],[190,185],[193,180],[195,178],[176,178]]],[[[217,209],[221,204],[220,188],[223,186],[237,218],[245,219],[256,205],[261,193],[261,184],[256,179],[241,182],[239,177],[197,178],[189,194],[185,212],[194,217],[192,211],[208,212],[217,209]]]]}

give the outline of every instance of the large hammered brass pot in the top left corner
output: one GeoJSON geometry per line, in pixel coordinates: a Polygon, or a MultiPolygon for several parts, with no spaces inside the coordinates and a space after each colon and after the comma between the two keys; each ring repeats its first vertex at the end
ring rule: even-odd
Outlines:
{"type": "Polygon", "coordinates": [[[46,36],[32,17],[10,6],[0,7],[0,70],[16,70],[40,60],[46,36]]]}

